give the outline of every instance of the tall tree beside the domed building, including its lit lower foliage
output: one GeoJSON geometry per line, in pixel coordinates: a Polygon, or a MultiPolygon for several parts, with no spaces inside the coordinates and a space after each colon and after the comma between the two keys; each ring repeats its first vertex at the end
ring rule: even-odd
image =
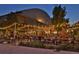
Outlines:
{"type": "Polygon", "coordinates": [[[53,17],[51,18],[52,24],[55,25],[55,28],[57,31],[61,31],[63,25],[67,27],[67,24],[69,23],[69,18],[65,18],[67,12],[66,7],[55,6],[52,11],[53,17]]]}

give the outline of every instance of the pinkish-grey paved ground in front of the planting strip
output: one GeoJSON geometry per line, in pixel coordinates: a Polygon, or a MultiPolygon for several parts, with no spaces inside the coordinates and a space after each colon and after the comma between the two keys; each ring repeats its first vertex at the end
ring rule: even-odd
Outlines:
{"type": "Polygon", "coordinates": [[[0,54],[78,54],[79,52],[59,51],[41,48],[12,46],[0,44],[0,54]]]}

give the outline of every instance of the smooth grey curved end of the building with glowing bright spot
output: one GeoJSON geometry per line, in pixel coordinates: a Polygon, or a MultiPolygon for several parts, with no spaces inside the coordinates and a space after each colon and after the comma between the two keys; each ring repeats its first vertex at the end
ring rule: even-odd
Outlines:
{"type": "Polygon", "coordinates": [[[38,22],[50,24],[50,16],[43,10],[34,8],[18,12],[21,15],[36,19],[38,22]]]}

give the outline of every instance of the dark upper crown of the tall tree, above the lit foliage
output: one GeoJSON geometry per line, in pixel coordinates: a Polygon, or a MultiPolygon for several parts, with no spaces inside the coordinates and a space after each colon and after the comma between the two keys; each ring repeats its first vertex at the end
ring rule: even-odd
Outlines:
{"type": "Polygon", "coordinates": [[[62,8],[61,5],[54,7],[52,14],[53,17],[51,18],[51,20],[52,24],[54,25],[62,24],[63,22],[69,22],[69,19],[65,19],[65,16],[67,14],[66,8],[62,8]]]}

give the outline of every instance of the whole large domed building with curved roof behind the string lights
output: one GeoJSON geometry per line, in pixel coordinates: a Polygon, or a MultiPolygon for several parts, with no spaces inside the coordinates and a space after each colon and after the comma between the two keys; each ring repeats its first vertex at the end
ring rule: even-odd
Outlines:
{"type": "MultiPolygon", "coordinates": [[[[0,25],[4,26],[4,24],[11,25],[13,22],[21,22],[31,25],[37,24],[46,24],[49,25],[51,23],[50,16],[43,10],[38,8],[22,10],[14,13],[10,13],[7,15],[3,15],[0,17],[0,25]]],[[[6,26],[8,26],[6,25],[6,26]]],[[[2,26],[2,27],[3,27],[2,26]]]]}

